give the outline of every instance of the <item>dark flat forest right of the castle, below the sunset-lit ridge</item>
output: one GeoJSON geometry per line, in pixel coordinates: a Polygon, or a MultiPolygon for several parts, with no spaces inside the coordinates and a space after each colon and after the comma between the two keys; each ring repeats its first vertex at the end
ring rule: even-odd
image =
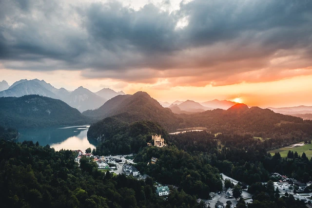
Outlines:
{"type": "Polygon", "coordinates": [[[311,158],[273,157],[268,150],[295,142],[282,138],[254,139],[250,133],[219,134],[186,132],[171,135],[168,141],[193,156],[205,155],[207,162],[234,179],[252,184],[270,179],[270,172],[287,174],[300,181],[312,180],[311,158]],[[203,148],[204,147],[204,148],[203,148]]]}

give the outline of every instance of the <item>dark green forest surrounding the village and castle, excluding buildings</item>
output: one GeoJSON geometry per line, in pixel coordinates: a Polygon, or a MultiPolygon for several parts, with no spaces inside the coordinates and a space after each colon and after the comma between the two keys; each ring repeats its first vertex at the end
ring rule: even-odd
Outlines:
{"type": "MultiPolygon", "coordinates": [[[[113,126],[118,122],[110,120],[113,126]]],[[[88,158],[82,158],[78,167],[74,162],[77,155],[72,151],[55,151],[48,145],[41,147],[33,142],[20,144],[2,140],[2,204],[5,207],[203,207],[196,199],[207,199],[210,191],[222,190],[219,173],[223,172],[250,185],[254,202],[246,204],[238,197],[238,208],[305,206],[292,194],[280,196],[270,186],[276,180],[270,172],[287,174],[304,182],[312,180],[311,158],[303,154],[281,158],[278,153],[273,156],[267,153],[269,149],[297,142],[295,138],[260,140],[250,133],[215,135],[207,131],[169,135],[151,121],[109,127],[104,132],[105,140],[94,153],[136,153],[135,166],[151,177],[144,181],[123,174],[104,173],[88,158]],[[166,147],[147,146],[155,133],[162,133],[166,147]],[[158,160],[156,164],[147,165],[151,157],[158,160]],[[168,198],[156,195],[154,180],[170,186],[168,198]],[[259,182],[268,182],[268,185],[259,182]],[[174,186],[178,189],[173,189],[174,186]]],[[[305,191],[311,191],[311,187],[305,191]]]]}

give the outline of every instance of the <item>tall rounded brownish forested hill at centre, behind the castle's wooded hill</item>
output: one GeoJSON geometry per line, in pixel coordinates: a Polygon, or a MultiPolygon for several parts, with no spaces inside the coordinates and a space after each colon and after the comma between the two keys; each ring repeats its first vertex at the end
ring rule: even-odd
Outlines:
{"type": "Polygon", "coordinates": [[[114,116],[129,123],[141,120],[155,121],[167,131],[176,130],[182,122],[178,115],[172,113],[168,108],[163,108],[157,100],[145,92],[137,92],[134,95],[118,95],[108,100],[100,108],[85,111],[82,114],[98,120],[114,116]]]}

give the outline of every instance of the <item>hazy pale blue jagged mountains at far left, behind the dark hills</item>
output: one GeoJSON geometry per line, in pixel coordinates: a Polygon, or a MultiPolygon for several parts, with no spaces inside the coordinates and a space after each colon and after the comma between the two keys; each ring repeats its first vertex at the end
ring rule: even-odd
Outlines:
{"type": "MultiPolygon", "coordinates": [[[[2,81],[3,82],[3,81],[2,81]]],[[[2,83],[1,82],[1,83],[2,83]]],[[[39,79],[21,79],[13,83],[6,90],[0,92],[0,97],[20,97],[23,95],[42,95],[55,99],[60,99],[66,102],[73,108],[78,109],[80,112],[96,109],[103,105],[108,99],[116,96],[123,95],[124,93],[115,92],[114,90],[104,88],[97,93],[83,88],[70,92],[64,88],[57,89],[51,84],[46,83],[44,80],[39,79]]]]}

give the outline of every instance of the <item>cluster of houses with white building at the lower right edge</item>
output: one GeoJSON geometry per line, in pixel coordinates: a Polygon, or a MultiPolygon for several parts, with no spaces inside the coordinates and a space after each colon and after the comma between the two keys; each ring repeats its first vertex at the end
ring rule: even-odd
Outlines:
{"type": "Polygon", "coordinates": [[[306,187],[312,185],[312,182],[302,183],[293,178],[288,178],[286,175],[281,175],[277,172],[272,173],[272,176],[278,178],[278,182],[274,182],[275,189],[290,191],[291,189],[296,188],[298,191],[304,191],[306,187]],[[292,188],[291,188],[292,187],[292,188]]]}

